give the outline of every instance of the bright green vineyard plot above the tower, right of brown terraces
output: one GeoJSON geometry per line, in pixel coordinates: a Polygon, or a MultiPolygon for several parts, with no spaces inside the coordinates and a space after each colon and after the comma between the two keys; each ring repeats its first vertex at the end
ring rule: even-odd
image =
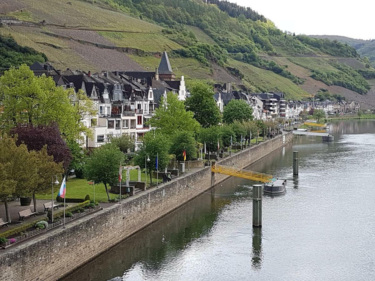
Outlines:
{"type": "Polygon", "coordinates": [[[151,33],[126,33],[98,31],[108,41],[116,46],[141,49],[143,51],[171,51],[182,46],[166,38],[163,34],[151,33]]]}

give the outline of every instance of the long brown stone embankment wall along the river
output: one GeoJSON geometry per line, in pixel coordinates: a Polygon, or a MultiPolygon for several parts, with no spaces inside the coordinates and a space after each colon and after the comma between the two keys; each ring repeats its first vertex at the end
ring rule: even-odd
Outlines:
{"type": "MultiPolygon", "coordinates": [[[[293,135],[284,137],[287,143],[293,135]]],[[[283,145],[283,136],[279,136],[218,163],[246,167],[283,145]]],[[[205,167],[72,222],[66,229],[2,250],[0,280],[57,280],[226,178],[211,175],[210,167],[205,167]]]]}

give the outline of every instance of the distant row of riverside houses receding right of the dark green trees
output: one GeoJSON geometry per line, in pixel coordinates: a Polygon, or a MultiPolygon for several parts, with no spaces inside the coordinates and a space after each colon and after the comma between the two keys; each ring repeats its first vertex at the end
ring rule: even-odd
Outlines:
{"type": "Polygon", "coordinates": [[[326,114],[357,112],[360,109],[359,103],[354,101],[350,103],[344,100],[339,102],[287,101],[282,92],[248,94],[233,90],[230,82],[214,85],[214,99],[220,111],[223,111],[224,106],[232,99],[245,100],[252,107],[255,120],[295,119],[302,111],[309,112],[312,109],[323,109],[326,114]]]}

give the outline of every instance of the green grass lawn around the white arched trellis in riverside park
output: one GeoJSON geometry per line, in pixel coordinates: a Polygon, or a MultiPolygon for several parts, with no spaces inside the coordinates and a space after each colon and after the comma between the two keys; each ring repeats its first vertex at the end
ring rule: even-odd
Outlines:
{"type": "MultiPolygon", "coordinates": [[[[123,181],[125,178],[123,172],[123,181]]],[[[144,173],[141,173],[141,181],[144,181],[144,173]]],[[[138,170],[131,170],[130,171],[130,181],[138,181],[138,170]]],[[[160,181],[160,179],[159,179],[160,181]]],[[[153,182],[156,182],[156,179],[153,178],[153,182]]],[[[147,176],[147,186],[150,184],[150,177],[147,176]]],[[[54,188],[54,198],[56,198],[58,194],[58,189],[60,185],[54,188]]],[[[111,187],[108,187],[110,189],[111,187]]],[[[84,199],[85,196],[89,194],[90,198],[93,199],[94,192],[93,186],[87,184],[86,179],[77,179],[72,178],[66,182],[66,198],[82,198],[84,199]]],[[[110,193],[110,198],[115,198],[117,194],[110,193]]],[[[51,199],[51,194],[45,195],[37,195],[37,199],[51,199]]],[[[105,192],[104,184],[95,184],[95,201],[98,202],[108,202],[107,193],[105,192]]]]}

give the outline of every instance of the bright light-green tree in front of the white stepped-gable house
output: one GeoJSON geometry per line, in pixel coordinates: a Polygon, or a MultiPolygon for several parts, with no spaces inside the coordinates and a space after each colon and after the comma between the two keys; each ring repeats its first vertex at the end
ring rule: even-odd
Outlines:
{"type": "Polygon", "coordinates": [[[193,118],[193,112],[186,111],[184,103],[171,92],[167,93],[166,99],[161,98],[159,108],[149,123],[151,127],[160,129],[167,136],[182,131],[197,134],[201,128],[198,121],[193,118]]]}

